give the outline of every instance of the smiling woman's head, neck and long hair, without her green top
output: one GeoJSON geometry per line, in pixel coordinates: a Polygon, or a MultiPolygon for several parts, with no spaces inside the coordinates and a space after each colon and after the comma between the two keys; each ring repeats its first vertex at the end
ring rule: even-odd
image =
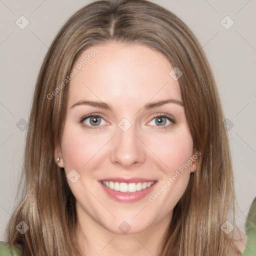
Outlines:
{"type": "Polygon", "coordinates": [[[81,8],[37,79],[12,253],[240,255],[227,145],[209,64],[179,18],[145,0],[81,8]]]}

